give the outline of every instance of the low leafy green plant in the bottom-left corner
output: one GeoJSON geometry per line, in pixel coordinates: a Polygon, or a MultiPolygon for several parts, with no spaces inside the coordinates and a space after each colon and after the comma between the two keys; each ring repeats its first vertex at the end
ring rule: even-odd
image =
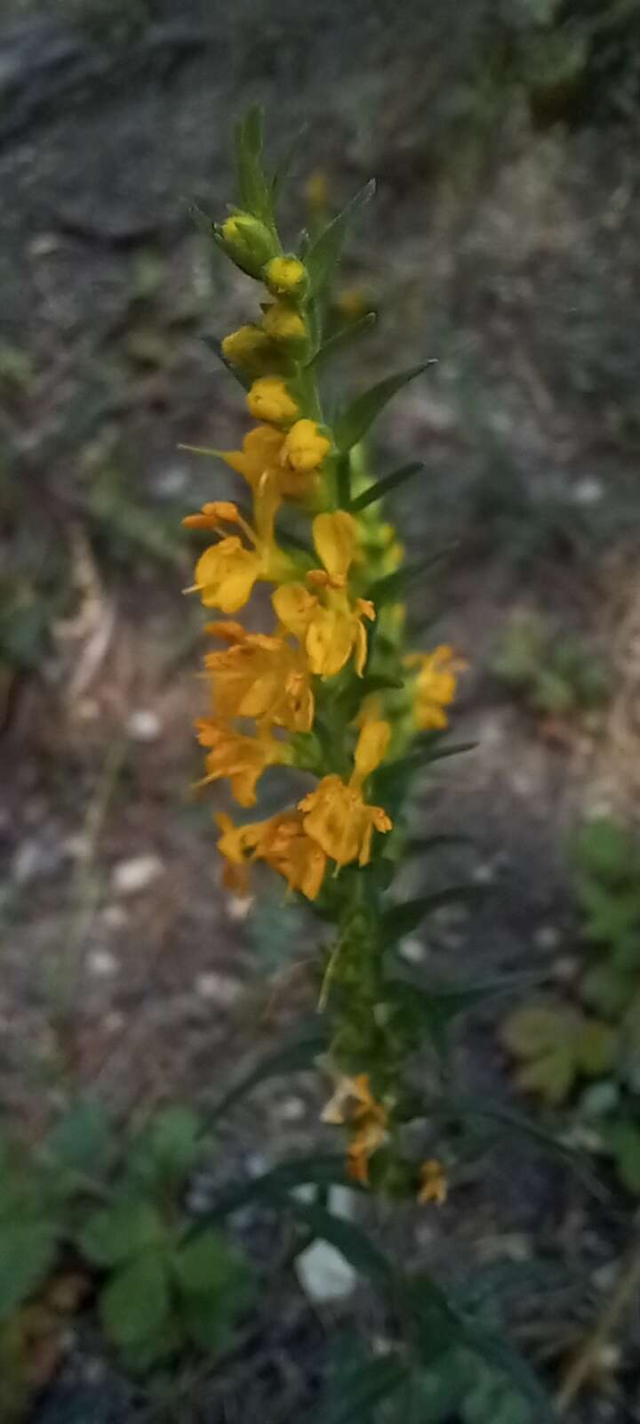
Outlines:
{"type": "Polygon", "coordinates": [[[98,1296],[105,1340],[131,1374],[228,1344],[250,1303],[249,1266],[183,1208],[210,1151],[199,1115],[179,1105],[124,1141],[97,1104],[71,1108],[36,1148],[3,1135],[0,1364],[16,1411],[7,1418],[20,1418],[28,1397],[34,1320],[51,1317],[51,1286],[70,1272],[85,1283],[73,1304],[98,1296]]]}

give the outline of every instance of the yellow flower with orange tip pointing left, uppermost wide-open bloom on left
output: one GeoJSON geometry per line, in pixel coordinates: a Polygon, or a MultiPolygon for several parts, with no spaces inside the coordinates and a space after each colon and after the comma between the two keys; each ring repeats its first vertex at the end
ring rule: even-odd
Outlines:
{"type": "Polygon", "coordinates": [[[199,514],[188,514],[182,523],[186,528],[213,530],[220,533],[226,524],[238,524],[252,548],[246,548],[236,535],[220,538],[201,554],[195,567],[195,584],[188,592],[198,591],[205,608],[220,608],[223,614],[235,614],[249,601],[256,580],[279,580],[290,571],[290,560],[277,548],[273,538],[273,517],[280,503],[277,491],[259,491],[255,501],[257,530],[242,517],[230,500],[212,500],[203,504],[199,514]]]}

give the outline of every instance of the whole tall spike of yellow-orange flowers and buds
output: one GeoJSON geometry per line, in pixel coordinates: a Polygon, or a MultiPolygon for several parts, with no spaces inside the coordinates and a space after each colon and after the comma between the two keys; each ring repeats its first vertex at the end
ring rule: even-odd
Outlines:
{"type": "MultiPolygon", "coordinates": [[[[247,134],[240,131],[246,206],[213,225],[212,235],[265,289],[260,316],[220,343],[253,424],[240,450],[203,451],[235,471],[245,497],[212,500],[185,520],[210,538],[192,591],[205,608],[225,615],[206,625],[210,705],[196,723],[205,749],[201,785],[226,780],[239,806],[250,807],[269,768],[297,769],[299,778],[313,779],[266,819],[236,823],[219,813],[218,849],[233,893],[249,893],[250,866],[263,862],[333,918],[340,954],[331,951],[330,963],[338,993],[360,943],[348,928],[361,897],[358,876],[374,870],[383,853],[388,863],[393,859],[395,810],[384,803],[384,776],[407,759],[415,738],[447,728],[462,664],[447,646],[427,654],[405,649],[402,548],[381,513],[381,493],[366,471],[360,444],[366,424],[388,399],[387,386],[381,384],[380,399],[375,389],[370,393],[364,422],[363,397],[351,420],[338,419],[333,427],[324,420],[316,372],[324,352],[330,238],[320,235],[302,253],[283,251],[272,189],[247,134]],[[297,535],[287,531],[292,520],[297,535]],[[263,594],[256,604],[263,631],[255,632],[255,618],[245,627],[236,615],[256,591],[259,597],[260,585],[267,601],[263,594]],[[346,873],[347,867],[353,870],[346,873]]],[[[370,917],[358,973],[361,1002],[370,980],[371,1014],[383,993],[375,934],[370,917]]],[[[368,1071],[354,1062],[368,1052],[368,1028],[363,1015],[356,1025],[350,1014],[347,1007],[338,1035],[348,1051],[334,1052],[343,1088],[329,1116],[348,1122],[348,1172],[366,1183],[370,1158],[391,1141],[398,1099],[391,1088],[384,1102],[371,1096],[368,1071]],[[351,1105],[347,1118],[343,1099],[351,1105]]],[[[377,1032],[375,1052],[377,1078],[391,1084],[397,1038],[377,1032]]],[[[444,1198],[444,1178],[430,1163],[417,1185],[422,1200],[444,1198]]]]}

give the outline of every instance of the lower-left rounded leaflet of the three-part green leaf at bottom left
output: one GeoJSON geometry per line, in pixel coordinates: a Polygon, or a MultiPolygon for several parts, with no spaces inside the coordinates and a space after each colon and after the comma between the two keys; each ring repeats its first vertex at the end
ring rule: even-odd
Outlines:
{"type": "Polygon", "coordinates": [[[100,1297],[104,1331],[121,1347],[154,1341],[162,1334],[169,1310],[165,1266],[152,1252],[112,1276],[100,1297]]]}

